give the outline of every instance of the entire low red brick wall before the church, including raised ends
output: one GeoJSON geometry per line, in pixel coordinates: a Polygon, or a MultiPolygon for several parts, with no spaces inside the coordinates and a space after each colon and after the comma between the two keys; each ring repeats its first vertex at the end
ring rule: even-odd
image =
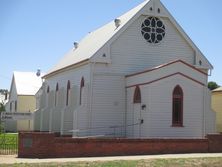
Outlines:
{"type": "Polygon", "coordinates": [[[21,158],[222,152],[222,135],[207,139],[76,139],[53,133],[19,133],[21,158]]]}

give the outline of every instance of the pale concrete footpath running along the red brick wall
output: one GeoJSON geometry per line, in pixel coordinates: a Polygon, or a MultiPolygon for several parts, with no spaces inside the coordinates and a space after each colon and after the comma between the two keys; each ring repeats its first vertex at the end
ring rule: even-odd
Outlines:
{"type": "Polygon", "coordinates": [[[1,164],[15,163],[62,163],[62,162],[92,162],[92,161],[116,161],[116,160],[146,160],[146,159],[169,159],[169,158],[208,158],[222,157],[222,153],[204,154],[166,154],[166,155],[141,155],[141,156],[116,156],[116,157],[90,157],[90,158],[50,158],[50,159],[28,159],[17,158],[17,155],[0,155],[1,164]]]}

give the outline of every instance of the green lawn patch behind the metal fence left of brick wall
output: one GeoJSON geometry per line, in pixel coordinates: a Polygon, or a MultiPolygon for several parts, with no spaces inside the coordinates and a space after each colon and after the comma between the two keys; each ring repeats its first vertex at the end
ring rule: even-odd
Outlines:
{"type": "Polygon", "coordinates": [[[16,154],[18,150],[18,134],[0,134],[0,154],[16,154]]]}

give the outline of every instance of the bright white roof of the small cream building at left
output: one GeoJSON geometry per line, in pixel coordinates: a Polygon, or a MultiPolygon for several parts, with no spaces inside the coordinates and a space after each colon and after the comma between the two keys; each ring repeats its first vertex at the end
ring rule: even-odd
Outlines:
{"type": "Polygon", "coordinates": [[[35,95],[42,86],[42,78],[37,77],[34,72],[14,72],[13,81],[15,83],[17,95],[35,95]]]}

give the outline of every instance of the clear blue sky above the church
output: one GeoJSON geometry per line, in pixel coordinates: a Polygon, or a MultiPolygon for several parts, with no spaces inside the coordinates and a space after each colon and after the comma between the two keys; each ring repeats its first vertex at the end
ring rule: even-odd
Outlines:
{"type": "MultiPolygon", "coordinates": [[[[88,32],[143,0],[0,0],[0,89],[13,71],[47,72],[88,32]]],[[[162,0],[213,64],[222,85],[222,1],[162,0]]]]}

